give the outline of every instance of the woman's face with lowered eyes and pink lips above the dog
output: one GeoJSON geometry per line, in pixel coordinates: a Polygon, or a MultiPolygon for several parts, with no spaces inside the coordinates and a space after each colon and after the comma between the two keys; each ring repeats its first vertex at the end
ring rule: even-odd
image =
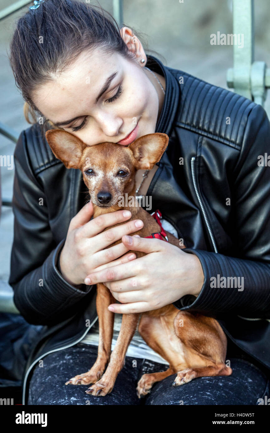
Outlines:
{"type": "Polygon", "coordinates": [[[140,60],[134,64],[118,53],[83,52],[61,76],[39,87],[33,102],[47,119],[89,146],[129,145],[155,132],[160,110],[159,84],[143,69],[140,60]]]}

